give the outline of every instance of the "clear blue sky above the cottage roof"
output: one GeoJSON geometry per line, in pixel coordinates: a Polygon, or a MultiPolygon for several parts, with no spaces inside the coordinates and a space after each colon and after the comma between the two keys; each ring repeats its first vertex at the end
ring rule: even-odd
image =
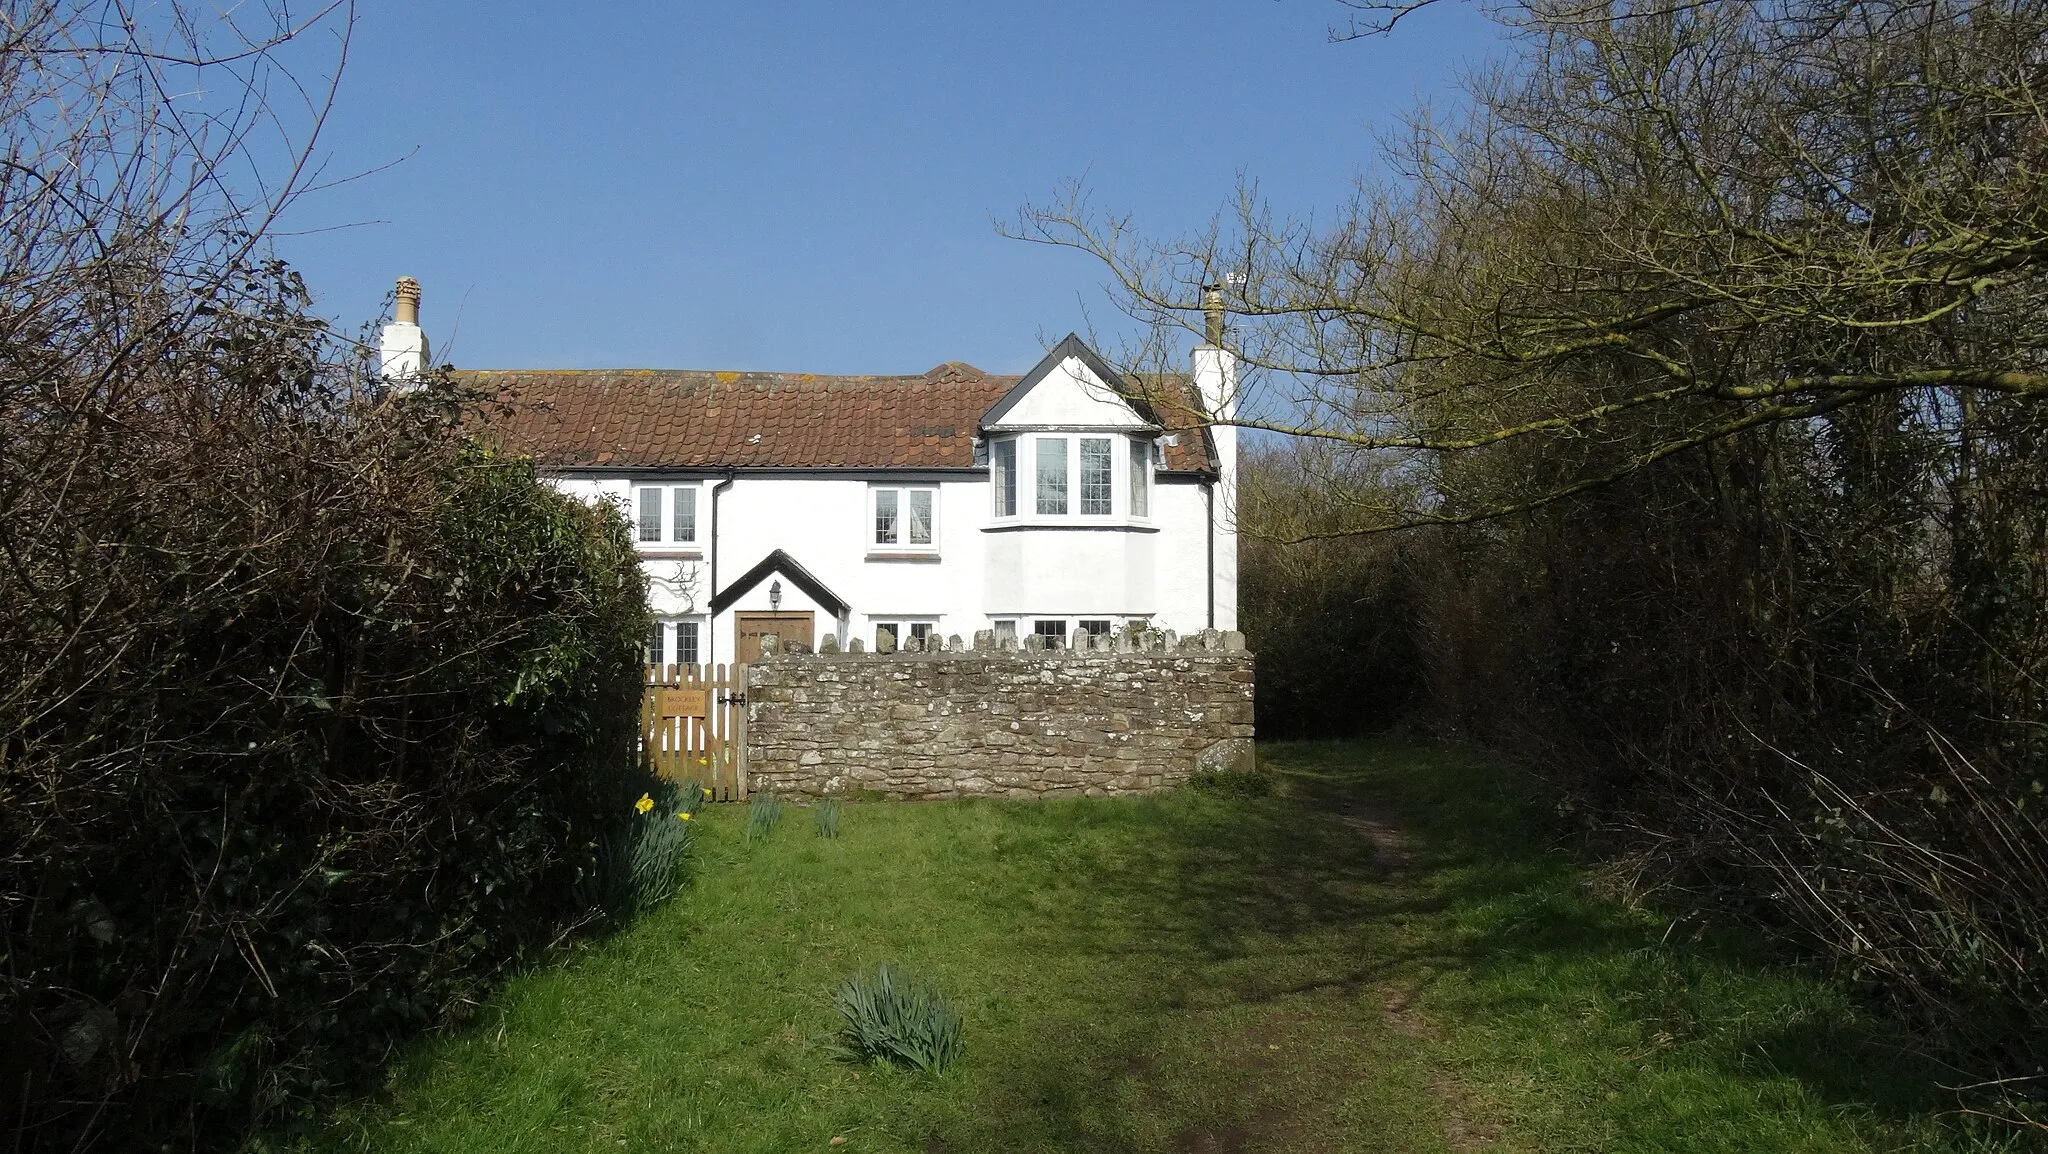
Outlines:
{"type": "Polygon", "coordinates": [[[424,285],[461,367],[1022,371],[1116,330],[1102,269],[991,221],[1081,178],[1151,234],[1239,174],[1327,211],[1497,51],[1468,6],[1333,0],[362,6],[326,174],[276,238],[322,314],[424,285]],[[391,164],[397,162],[397,164],[391,164]],[[346,228],[342,228],[346,225],[346,228]]]}

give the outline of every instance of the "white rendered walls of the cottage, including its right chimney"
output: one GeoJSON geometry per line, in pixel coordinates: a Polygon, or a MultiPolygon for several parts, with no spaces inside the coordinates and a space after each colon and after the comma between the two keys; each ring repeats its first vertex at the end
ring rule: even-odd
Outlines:
{"type": "MultiPolygon", "coordinates": [[[[1229,353],[1198,348],[1194,377],[1212,410],[1221,408],[1227,414],[1235,408],[1235,363],[1229,353]]],[[[1143,437],[1153,426],[1090,373],[1081,359],[1069,357],[991,426],[997,435],[1042,428],[1118,430],[1143,437]]],[[[1128,453],[1122,449],[1124,439],[1118,437],[1118,451],[1112,455],[1118,514],[1087,529],[1077,517],[1030,514],[1028,432],[1018,447],[1022,517],[1004,519],[1001,527],[993,517],[985,471],[944,480],[883,471],[737,476],[717,496],[721,478],[702,476],[696,480],[698,541],[643,547],[643,553],[662,553],[643,562],[649,574],[649,607],[659,617],[694,615],[709,621],[700,644],[700,658],[707,662],[731,662],[733,615],[770,611],[770,586],[776,580],[782,584],[780,609],[811,611],[815,637],[836,633],[842,646],[854,637],[872,646],[877,621],[932,621],[940,635],[961,637],[989,629],[999,617],[1016,619],[1020,631],[1030,629],[1032,617],[1147,617],[1155,627],[1180,633],[1210,623],[1235,629],[1237,523],[1231,494],[1237,478],[1237,439],[1227,426],[1212,428],[1212,435],[1223,457],[1223,484],[1214,488],[1214,506],[1204,486],[1161,482],[1155,476],[1151,514],[1126,517],[1128,453]],[[870,545],[874,523],[868,494],[877,484],[936,488],[934,555],[877,558],[899,551],[870,545]],[[782,549],[850,605],[844,623],[813,603],[786,574],[764,578],[713,621],[709,605],[719,592],[711,586],[713,529],[717,529],[719,588],[731,588],[768,553],[782,549]],[[1214,582],[1210,582],[1212,529],[1214,582]]],[[[637,480],[684,484],[674,476],[571,473],[551,480],[561,492],[584,500],[614,500],[629,519],[637,480]]]]}

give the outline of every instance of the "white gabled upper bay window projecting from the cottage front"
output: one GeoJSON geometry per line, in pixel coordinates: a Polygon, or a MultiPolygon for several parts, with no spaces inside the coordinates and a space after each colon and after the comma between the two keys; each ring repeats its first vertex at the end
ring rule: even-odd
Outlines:
{"type": "Polygon", "coordinates": [[[1067,334],[981,418],[993,527],[1143,527],[1163,426],[1067,334]]]}

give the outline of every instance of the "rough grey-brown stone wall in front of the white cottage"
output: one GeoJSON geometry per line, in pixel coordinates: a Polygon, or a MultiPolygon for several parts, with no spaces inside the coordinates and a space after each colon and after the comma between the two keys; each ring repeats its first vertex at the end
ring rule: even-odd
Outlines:
{"type": "Polygon", "coordinates": [[[748,787],[1102,797],[1253,767],[1253,662],[1239,633],[1032,642],[995,648],[981,633],[975,648],[934,637],[891,654],[764,652],[748,666],[748,787]]]}

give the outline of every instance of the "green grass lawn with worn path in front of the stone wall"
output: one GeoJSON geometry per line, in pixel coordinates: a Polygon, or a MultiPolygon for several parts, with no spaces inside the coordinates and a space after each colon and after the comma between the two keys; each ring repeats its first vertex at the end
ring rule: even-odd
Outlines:
{"type": "Polygon", "coordinates": [[[1833,990],[1593,896],[1513,779],[1268,746],[1278,795],[848,806],[430,1039],[322,1150],[1989,1150],[1833,990]],[[1399,834],[1395,830],[1401,830],[1399,834]],[[834,1049],[897,961],[940,1076],[834,1049]]]}

